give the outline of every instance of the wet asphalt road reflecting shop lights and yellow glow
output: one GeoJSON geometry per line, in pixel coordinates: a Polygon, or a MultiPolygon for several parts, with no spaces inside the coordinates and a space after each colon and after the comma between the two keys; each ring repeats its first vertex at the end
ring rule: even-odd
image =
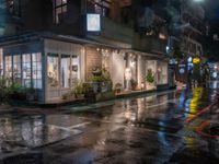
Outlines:
{"type": "Polygon", "coordinates": [[[219,163],[217,90],[0,113],[0,164],[219,163]]]}

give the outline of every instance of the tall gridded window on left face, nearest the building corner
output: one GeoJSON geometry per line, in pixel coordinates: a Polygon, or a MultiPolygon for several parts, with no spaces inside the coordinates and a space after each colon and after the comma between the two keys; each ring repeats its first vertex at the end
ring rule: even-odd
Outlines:
{"type": "Polygon", "coordinates": [[[42,89],[42,54],[32,54],[33,87],[42,89]]]}

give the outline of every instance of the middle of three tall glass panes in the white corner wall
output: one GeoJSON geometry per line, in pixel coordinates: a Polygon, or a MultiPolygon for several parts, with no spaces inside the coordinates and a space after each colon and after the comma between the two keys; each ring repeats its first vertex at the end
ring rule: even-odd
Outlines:
{"type": "Polygon", "coordinates": [[[61,55],[61,87],[70,87],[70,56],[61,55]]]}

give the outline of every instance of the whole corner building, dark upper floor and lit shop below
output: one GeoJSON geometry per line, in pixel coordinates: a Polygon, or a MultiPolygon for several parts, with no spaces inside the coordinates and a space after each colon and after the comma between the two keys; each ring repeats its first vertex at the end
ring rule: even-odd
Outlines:
{"type": "Polygon", "coordinates": [[[89,81],[96,68],[110,72],[113,89],[119,84],[124,91],[134,90],[132,82],[135,90],[169,87],[168,31],[157,4],[11,1],[1,8],[5,15],[1,21],[7,25],[0,38],[1,75],[32,85],[38,101],[61,98],[78,81],[89,81]],[[154,77],[150,85],[146,80],[149,72],[154,77]]]}

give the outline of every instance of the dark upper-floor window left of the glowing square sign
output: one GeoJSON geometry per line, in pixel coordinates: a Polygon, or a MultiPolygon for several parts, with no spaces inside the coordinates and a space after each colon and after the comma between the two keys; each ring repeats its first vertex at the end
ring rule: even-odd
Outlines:
{"type": "Polygon", "coordinates": [[[67,0],[54,0],[54,22],[60,23],[67,13],[67,0]]]}

